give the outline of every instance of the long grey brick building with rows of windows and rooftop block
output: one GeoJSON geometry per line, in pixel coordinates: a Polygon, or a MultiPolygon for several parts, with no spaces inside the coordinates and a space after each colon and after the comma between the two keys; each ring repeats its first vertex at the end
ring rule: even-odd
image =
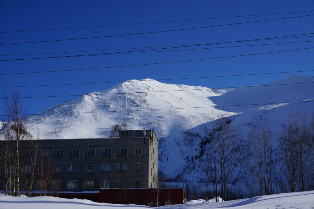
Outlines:
{"type": "MultiPolygon", "coordinates": [[[[154,130],[121,131],[119,138],[41,139],[39,143],[39,155],[53,162],[53,190],[154,188],[157,182],[154,130]]],[[[33,189],[39,184],[36,180],[33,189]]]]}

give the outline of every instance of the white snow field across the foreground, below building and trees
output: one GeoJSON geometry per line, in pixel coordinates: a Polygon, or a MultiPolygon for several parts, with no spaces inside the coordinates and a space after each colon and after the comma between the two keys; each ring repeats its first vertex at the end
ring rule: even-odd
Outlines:
{"type": "MultiPolygon", "coordinates": [[[[207,208],[314,208],[314,191],[282,193],[276,195],[257,196],[248,199],[225,202],[205,202],[162,206],[168,209],[207,209],[207,208]]],[[[96,203],[89,200],[63,199],[58,197],[10,197],[0,196],[1,209],[145,209],[143,205],[115,205],[96,203]]]]}

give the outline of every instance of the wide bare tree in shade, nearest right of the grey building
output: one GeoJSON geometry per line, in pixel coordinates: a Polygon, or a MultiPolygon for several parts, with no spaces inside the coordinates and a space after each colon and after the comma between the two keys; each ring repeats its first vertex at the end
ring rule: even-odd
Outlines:
{"type": "Polygon", "coordinates": [[[227,115],[215,117],[212,122],[213,129],[207,134],[210,149],[203,151],[203,156],[198,156],[203,165],[201,172],[205,174],[214,188],[216,201],[219,194],[223,201],[228,200],[232,187],[243,175],[246,163],[246,147],[241,138],[238,126],[234,126],[227,115]]]}

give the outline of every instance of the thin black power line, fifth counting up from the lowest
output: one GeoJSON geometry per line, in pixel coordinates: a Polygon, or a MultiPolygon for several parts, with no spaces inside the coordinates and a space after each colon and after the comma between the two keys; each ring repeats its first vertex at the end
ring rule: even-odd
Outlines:
{"type": "MultiPolygon", "coordinates": [[[[0,60],[0,61],[37,60],[37,59],[87,57],[87,56],[102,56],[102,55],[127,55],[127,54],[139,54],[139,53],[204,50],[204,49],[222,49],[222,48],[234,48],[234,47],[245,47],[245,46],[265,46],[265,45],[293,44],[293,43],[305,43],[305,42],[313,42],[313,41],[295,41],[295,42],[272,43],[272,44],[252,44],[252,45],[240,45],[240,46],[223,46],[223,47],[210,47],[210,48],[197,48],[197,49],[163,50],[163,51],[134,50],[134,51],[110,52],[110,53],[100,53],[100,54],[68,55],[68,56],[58,56],[58,57],[37,57],[37,58],[11,59],[11,60],[0,60]]],[[[180,47],[163,48],[163,49],[173,49],[173,48],[180,48],[180,47]]],[[[150,49],[150,50],[160,50],[160,49],[150,49]]]]}

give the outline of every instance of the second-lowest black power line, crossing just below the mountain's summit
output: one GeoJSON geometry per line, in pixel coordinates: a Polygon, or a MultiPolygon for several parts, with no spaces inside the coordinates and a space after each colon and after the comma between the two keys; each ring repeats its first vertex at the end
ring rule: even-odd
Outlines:
{"type": "MultiPolygon", "coordinates": [[[[116,94],[143,94],[143,93],[157,93],[157,92],[173,92],[173,91],[195,91],[195,90],[212,90],[212,89],[232,89],[232,88],[246,88],[246,87],[262,87],[262,86],[285,86],[285,85],[296,85],[296,84],[311,84],[314,82],[303,82],[303,83],[284,83],[284,84],[267,84],[257,86],[232,86],[232,87],[220,87],[220,88],[202,88],[202,89],[183,89],[183,90],[165,90],[165,91],[138,91],[138,92],[122,92],[122,93],[106,93],[106,94],[78,94],[78,95],[59,95],[59,96],[36,96],[36,97],[19,97],[25,98],[46,98],[46,97],[78,97],[78,96],[98,96],[98,95],[116,95],[116,94]]],[[[16,99],[16,97],[6,97],[0,99],[16,99]]]]}

